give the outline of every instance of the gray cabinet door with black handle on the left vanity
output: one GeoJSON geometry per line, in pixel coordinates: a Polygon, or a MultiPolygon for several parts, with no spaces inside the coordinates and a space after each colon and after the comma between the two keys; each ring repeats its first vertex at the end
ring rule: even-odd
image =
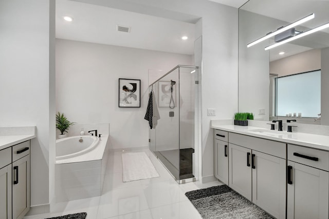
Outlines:
{"type": "Polygon", "coordinates": [[[30,209],[30,155],[12,163],[12,218],[23,218],[30,209]]]}

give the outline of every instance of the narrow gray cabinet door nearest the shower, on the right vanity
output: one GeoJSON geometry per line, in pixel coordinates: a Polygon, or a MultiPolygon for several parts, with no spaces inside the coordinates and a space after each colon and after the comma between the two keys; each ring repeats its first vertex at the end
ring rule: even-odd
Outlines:
{"type": "Polygon", "coordinates": [[[215,139],[215,176],[228,185],[228,143],[215,139]]]}

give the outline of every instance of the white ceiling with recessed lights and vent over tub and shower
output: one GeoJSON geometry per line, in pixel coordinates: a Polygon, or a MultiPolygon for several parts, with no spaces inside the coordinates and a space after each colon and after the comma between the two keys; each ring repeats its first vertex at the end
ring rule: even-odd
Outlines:
{"type": "MultiPolygon", "coordinates": [[[[246,0],[209,0],[235,8],[246,0]]],[[[134,0],[57,0],[56,38],[194,54],[195,23],[200,17],[145,6],[134,0]],[[72,22],[63,15],[73,17],[72,22]],[[117,25],[130,27],[129,33],[117,31],[117,25]],[[188,40],[181,40],[183,35],[188,40]]]]}

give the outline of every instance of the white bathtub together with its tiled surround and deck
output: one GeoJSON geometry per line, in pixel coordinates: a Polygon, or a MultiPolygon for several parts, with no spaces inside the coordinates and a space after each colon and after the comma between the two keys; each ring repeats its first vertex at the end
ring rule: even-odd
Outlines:
{"type": "Polygon", "coordinates": [[[56,140],[56,202],[101,195],[109,148],[106,134],[56,140]]]}

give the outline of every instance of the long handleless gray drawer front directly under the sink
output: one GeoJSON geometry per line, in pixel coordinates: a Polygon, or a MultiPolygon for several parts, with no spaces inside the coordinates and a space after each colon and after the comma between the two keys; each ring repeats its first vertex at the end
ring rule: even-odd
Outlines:
{"type": "Polygon", "coordinates": [[[251,150],[286,159],[286,144],[230,132],[229,142],[251,150]]]}

